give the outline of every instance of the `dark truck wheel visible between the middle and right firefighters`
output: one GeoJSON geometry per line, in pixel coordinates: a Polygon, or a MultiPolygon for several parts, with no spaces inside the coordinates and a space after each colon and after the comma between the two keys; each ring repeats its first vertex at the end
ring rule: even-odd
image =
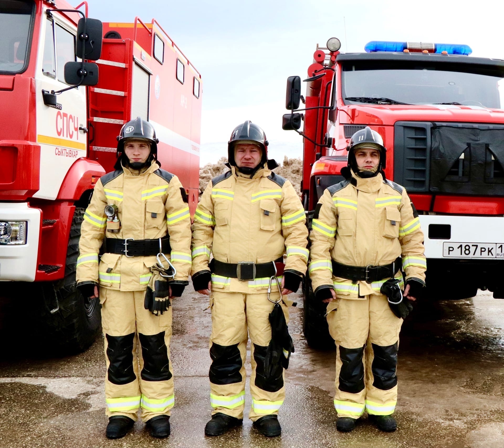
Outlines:
{"type": "Polygon", "coordinates": [[[335,348],[326,319],[327,304],[315,299],[308,275],[303,280],[303,333],[308,346],[319,350],[335,348]]]}

